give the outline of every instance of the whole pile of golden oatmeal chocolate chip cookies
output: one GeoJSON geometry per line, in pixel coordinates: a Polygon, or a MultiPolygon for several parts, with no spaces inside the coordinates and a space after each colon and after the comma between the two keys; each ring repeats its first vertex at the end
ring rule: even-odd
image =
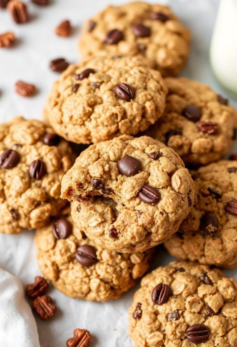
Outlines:
{"type": "Polygon", "coordinates": [[[208,266],[237,266],[237,156],[220,160],[237,117],[208,86],[174,77],[189,45],[168,7],[109,6],[85,24],[85,60],[53,84],[50,126],[0,126],[0,231],[37,228],[40,269],[64,294],[118,298],[163,242],[183,260],[142,279],[129,311],[137,347],[237,346],[237,283],[208,266]],[[75,160],[68,141],[92,144],[75,160]]]}

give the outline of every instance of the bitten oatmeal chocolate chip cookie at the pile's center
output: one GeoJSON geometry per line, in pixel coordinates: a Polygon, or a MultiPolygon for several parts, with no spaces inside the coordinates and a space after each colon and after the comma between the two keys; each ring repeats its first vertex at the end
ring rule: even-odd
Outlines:
{"type": "Polygon", "coordinates": [[[71,215],[90,240],[133,253],[178,230],[193,203],[194,183],[179,156],[163,143],[122,135],[82,152],[63,177],[61,193],[69,201],[88,202],[83,211],[73,206],[71,215]]]}

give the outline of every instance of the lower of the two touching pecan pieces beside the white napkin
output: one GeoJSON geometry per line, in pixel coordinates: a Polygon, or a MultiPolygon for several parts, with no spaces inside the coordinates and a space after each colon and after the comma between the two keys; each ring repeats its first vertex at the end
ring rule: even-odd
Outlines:
{"type": "Polygon", "coordinates": [[[56,311],[56,306],[52,304],[51,297],[47,295],[35,298],[32,307],[41,319],[49,319],[56,311]]]}

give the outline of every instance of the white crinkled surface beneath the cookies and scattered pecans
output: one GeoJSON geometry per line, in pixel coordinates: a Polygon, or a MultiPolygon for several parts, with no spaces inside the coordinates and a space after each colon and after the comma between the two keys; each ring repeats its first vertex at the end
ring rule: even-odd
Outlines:
{"type": "MultiPolygon", "coordinates": [[[[76,62],[79,59],[76,43],[84,20],[108,3],[122,2],[52,0],[51,5],[38,7],[27,1],[30,21],[24,25],[14,24],[6,10],[0,10],[0,32],[12,30],[18,38],[14,47],[0,49],[0,120],[6,121],[16,115],[40,119],[46,95],[58,76],[50,71],[49,61],[65,57],[70,62],[76,62]],[[74,26],[70,38],[58,37],[53,31],[64,18],[69,18],[74,26]],[[32,98],[17,95],[14,83],[18,79],[34,83],[38,93],[32,98]]],[[[191,57],[182,75],[207,83],[225,95],[211,73],[208,52],[219,1],[160,0],[160,3],[170,4],[192,30],[191,57]]],[[[233,100],[231,103],[237,105],[233,100]]],[[[32,231],[18,236],[0,235],[0,266],[18,276],[24,285],[39,274],[33,236],[32,231]]],[[[171,259],[160,246],[152,268],[164,265],[171,259]]],[[[226,273],[237,278],[236,270],[226,273]]],[[[127,310],[134,291],[135,288],[115,302],[100,304],[70,299],[51,288],[50,295],[58,311],[50,321],[40,321],[36,317],[41,346],[65,346],[65,341],[72,336],[75,328],[87,328],[93,335],[92,347],[132,347],[127,310]]]]}

